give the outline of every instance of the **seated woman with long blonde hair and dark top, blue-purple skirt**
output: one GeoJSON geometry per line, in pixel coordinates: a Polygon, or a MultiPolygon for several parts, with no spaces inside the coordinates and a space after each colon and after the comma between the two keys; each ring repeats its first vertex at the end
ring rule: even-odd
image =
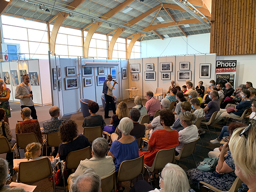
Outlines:
{"type": "Polygon", "coordinates": [[[110,125],[106,125],[103,131],[106,131],[110,134],[114,133],[116,127],[119,125],[119,122],[122,118],[129,117],[128,106],[125,102],[120,102],[116,108],[116,114],[114,114],[110,120],[110,125]]]}

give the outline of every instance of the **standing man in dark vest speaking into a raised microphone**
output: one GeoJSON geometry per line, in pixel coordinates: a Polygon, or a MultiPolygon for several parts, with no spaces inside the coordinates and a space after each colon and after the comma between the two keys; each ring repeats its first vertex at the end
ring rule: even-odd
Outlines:
{"type": "Polygon", "coordinates": [[[113,91],[112,90],[115,89],[114,86],[115,86],[115,84],[118,84],[118,83],[113,80],[114,84],[112,86],[111,83],[110,83],[110,81],[112,81],[112,80],[113,80],[112,75],[108,75],[107,79],[104,81],[104,84],[103,84],[102,93],[104,93],[105,100],[106,100],[105,119],[111,118],[110,116],[108,116],[110,105],[112,107],[113,114],[116,114],[116,106],[114,104],[114,98],[113,98],[113,91]]]}

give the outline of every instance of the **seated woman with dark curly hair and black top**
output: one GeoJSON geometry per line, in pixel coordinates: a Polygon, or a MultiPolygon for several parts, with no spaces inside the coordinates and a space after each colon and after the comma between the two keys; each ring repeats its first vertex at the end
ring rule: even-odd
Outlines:
{"type": "Polygon", "coordinates": [[[74,120],[63,122],[59,130],[62,143],[59,145],[59,150],[56,157],[60,157],[60,160],[65,161],[69,152],[92,146],[86,136],[83,134],[78,135],[77,124],[74,120]]]}

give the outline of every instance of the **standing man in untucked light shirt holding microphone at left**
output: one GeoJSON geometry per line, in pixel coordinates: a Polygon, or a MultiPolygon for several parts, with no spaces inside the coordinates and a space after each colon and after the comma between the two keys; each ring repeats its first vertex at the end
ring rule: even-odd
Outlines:
{"type": "Polygon", "coordinates": [[[23,82],[18,84],[15,90],[15,98],[20,99],[20,107],[21,109],[28,107],[31,110],[32,119],[37,119],[36,109],[34,106],[33,94],[29,84],[29,76],[28,74],[24,74],[22,76],[23,82]]]}

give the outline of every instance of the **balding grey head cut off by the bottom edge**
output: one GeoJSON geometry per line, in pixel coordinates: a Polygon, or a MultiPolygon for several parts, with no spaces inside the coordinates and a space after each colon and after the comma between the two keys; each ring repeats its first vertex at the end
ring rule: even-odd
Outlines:
{"type": "Polygon", "coordinates": [[[72,192],[101,192],[100,176],[88,168],[84,174],[78,176],[72,185],[72,192]]]}

